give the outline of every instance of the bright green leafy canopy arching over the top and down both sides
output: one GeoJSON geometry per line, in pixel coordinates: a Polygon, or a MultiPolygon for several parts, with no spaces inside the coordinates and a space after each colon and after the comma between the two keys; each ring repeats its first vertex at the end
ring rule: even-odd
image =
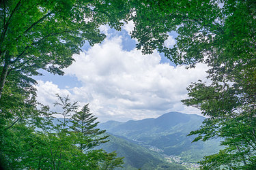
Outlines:
{"type": "Polygon", "coordinates": [[[158,50],[177,65],[210,67],[210,82],[191,84],[183,101],[209,117],[190,133],[198,135],[195,141],[221,137],[225,146],[201,167],[255,169],[255,1],[8,0],[0,3],[0,18],[1,144],[5,135],[18,139],[12,128],[25,131],[17,122],[39,118],[31,75],[40,75],[38,69],[62,75],[86,41],[92,46],[104,39],[100,25],[120,30],[122,20],[132,20],[143,54],[158,50]],[[165,40],[172,31],[177,37],[170,48],[165,40]]]}

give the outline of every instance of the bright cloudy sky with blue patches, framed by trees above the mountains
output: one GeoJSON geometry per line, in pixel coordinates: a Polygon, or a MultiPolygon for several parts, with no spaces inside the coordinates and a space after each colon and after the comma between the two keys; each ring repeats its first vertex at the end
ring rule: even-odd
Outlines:
{"type": "MultiPolygon", "coordinates": [[[[202,63],[195,69],[176,66],[156,51],[143,55],[135,48],[137,40],[130,38],[132,29],[132,22],[122,31],[102,26],[106,39],[92,47],[85,44],[80,54],[74,54],[75,62],[63,69],[65,75],[41,70],[44,76],[35,77],[38,101],[53,108],[56,93],[69,95],[80,107],[89,103],[100,122],[156,118],[167,112],[201,115],[181,100],[188,98],[186,87],[191,82],[206,81],[208,67],[202,63]]],[[[169,33],[165,46],[172,47],[176,36],[169,33]]]]}

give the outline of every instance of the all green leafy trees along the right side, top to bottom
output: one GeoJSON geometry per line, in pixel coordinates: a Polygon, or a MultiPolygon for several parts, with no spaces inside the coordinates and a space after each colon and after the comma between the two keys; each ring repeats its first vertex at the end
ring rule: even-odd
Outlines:
{"type": "Polygon", "coordinates": [[[144,54],[157,49],[177,65],[201,62],[210,67],[210,84],[191,84],[189,99],[183,100],[209,117],[190,133],[199,135],[195,141],[221,137],[225,146],[206,156],[202,168],[255,169],[255,1],[143,0],[134,2],[133,10],[132,37],[144,54]],[[165,40],[171,31],[178,35],[169,48],[165,40]]]}

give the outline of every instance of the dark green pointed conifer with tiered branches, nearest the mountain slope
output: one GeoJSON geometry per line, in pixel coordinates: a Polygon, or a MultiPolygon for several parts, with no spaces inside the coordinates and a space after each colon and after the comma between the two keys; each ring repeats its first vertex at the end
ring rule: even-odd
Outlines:
{"type": "MultiPolygon", "coordinates": [[[[117,154],[115,152],[107,153],[104,150],[92,150],[96,146],[99,146],[100,143],[109,141],[107,140],[109,135],[105,134],[106,130],[102,131],[96,128],[99,123],[95,122],[96,119],[97,118],[90,112],[89,104],[84,105],[81,111],[75,112],[69,120],[71,123],[69,127],[72,129],[71,133],[75,136],[73,137],[73,142],[82,153],[100,155],[96,165],[87,165],[87,167],[100,169],[122,167],[121,165],[124,163],[123,158],[116,158],[117,154]]],[[[90,163],[94,162],[95,160],[90,160],[90,163]]],[[[78,159],[76,167],[85,167],[85,165],[78,159]]]]}

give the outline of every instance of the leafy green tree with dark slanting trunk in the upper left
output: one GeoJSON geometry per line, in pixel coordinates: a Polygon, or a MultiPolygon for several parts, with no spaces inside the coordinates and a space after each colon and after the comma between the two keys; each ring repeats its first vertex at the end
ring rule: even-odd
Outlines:
{"type": "Polygon", "coordinates": [[[112,0],[8,0],[0,9],[0,99],[13,72],[24,78],[40,75],[38,69],[63,75],[86,41],[93,46],[104,39],[100,25],[119,30],[129,12],[126,1],[112,0]]]}

